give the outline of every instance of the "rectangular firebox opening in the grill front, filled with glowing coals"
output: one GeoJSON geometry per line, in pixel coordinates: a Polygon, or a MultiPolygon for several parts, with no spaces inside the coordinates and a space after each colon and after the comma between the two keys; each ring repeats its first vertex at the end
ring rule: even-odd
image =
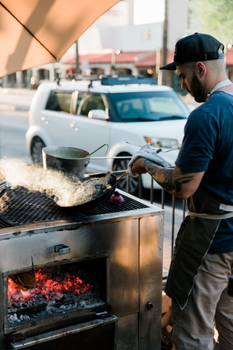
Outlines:
{"type": "Polygon", "coordinates": [[[54,265],[24,274],[9,275],[7,281],[8,327],[31,326],[34,321],[61,314],[106,311],[106,258],[54,265]],[[35,276],[36,283],[28,287],[35,276]]]}

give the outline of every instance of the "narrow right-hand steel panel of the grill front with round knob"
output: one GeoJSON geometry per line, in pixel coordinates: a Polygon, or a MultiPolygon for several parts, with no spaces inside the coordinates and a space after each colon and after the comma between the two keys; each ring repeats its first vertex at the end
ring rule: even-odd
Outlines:
{"type": "Polygon", "coordinates": [[[162,216],[140,219],[139,350],[160,349],[161,346],[161,222],[162,216]],[[153,308],[148,308],[148,302],[153,304],[153,308]]]}

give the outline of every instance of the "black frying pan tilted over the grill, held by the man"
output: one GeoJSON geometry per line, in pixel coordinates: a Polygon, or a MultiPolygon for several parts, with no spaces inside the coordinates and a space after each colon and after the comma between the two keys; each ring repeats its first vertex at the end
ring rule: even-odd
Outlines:
{"type": "MultiPolygon", "coordinates": [[[[94,207],[97,207],[99,204],[106,202],[106,200],[108,200],[111,197],[111,195],[113,195],[113,193],[115,192],[115,189],[116,189],[116,184],[126,174],[127,174],[127,172],[124,172],[120,176],[115,176],[115,174],[110,174],[111,175],[111,183],[110,183],[111,188],[106,190],[106,192],[103,195],[100,195],[99,197],[94,198],[94,200],[90,200],[89,202],[86,202],[83,204],[78,204],[78,205],[71,206],[71,207],[62,207],[62,206],[59,206],[59,204],[57,204],[57,203],[56,204],[59,207],[62,207],[62,209],[69,209],[70,210],[71,208],[73,208],[73,209],[76,208],[76,209],[78,209],[78,211],[89,210],[89,209],[92,209],[94,207]]],[[[89,179],[93,179],[94,177],[99,178],[102,176],[106,176],[106,173],[94,174],[94,175],[90,174],[90,176],[85,177],[85,181],[89,180],[89,179]]]]}

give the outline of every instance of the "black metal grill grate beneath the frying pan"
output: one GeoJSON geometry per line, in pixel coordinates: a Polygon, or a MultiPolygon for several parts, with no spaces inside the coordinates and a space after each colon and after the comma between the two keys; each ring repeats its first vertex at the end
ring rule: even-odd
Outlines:
{"type": "Polygon", "coordinates": [[[8,202],[6,202],[8,209],[0,216],[0,228],[3,228],[3,225],[6,225],[5,227],[29,225],[32,223],[65,220],[73,217],[148,208],[145,204],[123,196],[125,203],[122,206],[116,206],[106,201],[94,209],[78,211],[76,208],[58,207],[52,198],[47,195],[40,192],[32,193],[23,187],[9,190],[7,196],[9,198],[8,202]]]}

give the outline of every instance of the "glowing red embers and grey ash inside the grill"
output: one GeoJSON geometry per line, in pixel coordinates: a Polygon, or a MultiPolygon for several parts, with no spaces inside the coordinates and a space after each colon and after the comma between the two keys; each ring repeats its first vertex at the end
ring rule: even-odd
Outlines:
{"type": "Polygon", "coordinates": [[[8,276],[8,321],[29,321],[54,312],[102,304],[94,298],[87,274],[74,265],[62,265],[35,271],[36,286],[25,288],[18,276],[8,276]]]}

